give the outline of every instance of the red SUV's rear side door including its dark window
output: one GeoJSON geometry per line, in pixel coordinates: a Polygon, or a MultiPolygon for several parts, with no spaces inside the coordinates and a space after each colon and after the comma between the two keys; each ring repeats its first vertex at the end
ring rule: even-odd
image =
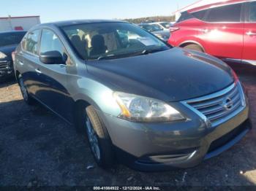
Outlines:
{"type": "Polygon", "coordinates": [[[243,4],[229,4],[208,9],[206,23],[198,30],[198,38],[210,55],[241,60],[244,23],[243,4]]]}

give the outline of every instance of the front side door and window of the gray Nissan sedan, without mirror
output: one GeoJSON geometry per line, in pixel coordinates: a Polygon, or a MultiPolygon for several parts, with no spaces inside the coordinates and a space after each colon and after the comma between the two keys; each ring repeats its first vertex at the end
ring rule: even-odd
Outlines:
{"type": "Polygon", "coordinates": [[[40,101],[66,120],[72,119],[72,98],[67,90],[67,71],[70,59],[59,36],[50,29],[42,29],[39,55],[48,51],[59,51],[64,57],[63,64],[38,65],[44,86],[39,87],[40,101]]]}

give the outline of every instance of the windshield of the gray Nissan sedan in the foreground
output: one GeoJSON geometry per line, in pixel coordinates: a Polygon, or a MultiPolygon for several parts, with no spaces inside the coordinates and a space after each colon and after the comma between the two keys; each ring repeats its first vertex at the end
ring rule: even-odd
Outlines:
{"type": "Polygon", "coordinates": [[[62,29],[85,60],[125,58],[170,49],[154,35],[130,23],[85,23],[62,29]]]}

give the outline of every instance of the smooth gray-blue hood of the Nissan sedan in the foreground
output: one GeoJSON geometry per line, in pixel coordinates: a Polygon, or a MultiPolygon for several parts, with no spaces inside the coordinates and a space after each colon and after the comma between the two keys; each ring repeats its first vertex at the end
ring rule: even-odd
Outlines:
{"type": "Polygon", "coordinates": [[[215,93],[234,81],[232,69],[204,53],[173,48],[149,55],[88,64],[89,73],[112,90],[163,101],[215,93]]]}

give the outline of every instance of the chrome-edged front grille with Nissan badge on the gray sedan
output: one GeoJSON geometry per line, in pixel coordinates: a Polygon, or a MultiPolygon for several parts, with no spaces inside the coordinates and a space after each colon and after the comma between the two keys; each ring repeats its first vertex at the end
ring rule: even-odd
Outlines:
{"type": "Polygon", "coordinates": [[[187,104],[203,114],[211,126],[216,126],[244,108],[243,97],[241,85],[237,83],[219,93],[187,101],[187,104]]]}

